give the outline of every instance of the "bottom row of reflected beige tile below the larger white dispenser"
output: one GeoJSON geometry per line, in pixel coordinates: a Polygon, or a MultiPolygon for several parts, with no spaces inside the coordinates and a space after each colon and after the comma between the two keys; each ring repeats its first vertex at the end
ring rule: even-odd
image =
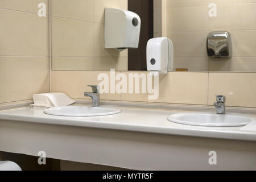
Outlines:
{"type": "Polygon", "coordinates": [[[127,71],[127,57],[52,57],[53,71],[127,71]]]}

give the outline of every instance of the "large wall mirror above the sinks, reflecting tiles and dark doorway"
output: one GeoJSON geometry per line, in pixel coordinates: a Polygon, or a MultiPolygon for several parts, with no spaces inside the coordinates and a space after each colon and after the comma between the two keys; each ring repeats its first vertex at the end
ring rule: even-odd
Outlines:
{"type": "Polygon", "coordinates": [[[205,0],[51,0],[53,71],[145,71],[148,39],[174,44],[174,70],[256,72],[256,4],[205,0]],[[126,9],[142,20],[138,49],[104,48],[105,7],[126,9]],[[232,57],[209,58],[207,36],[229,31],[232,57]]]}

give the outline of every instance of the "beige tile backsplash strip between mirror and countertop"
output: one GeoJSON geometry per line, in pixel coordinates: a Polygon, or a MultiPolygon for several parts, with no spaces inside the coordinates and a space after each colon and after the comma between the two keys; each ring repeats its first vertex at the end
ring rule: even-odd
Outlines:
{"type": "MultiPolygon", "coordinates": [[[[91,88],[86,85],[100,82],[97,80],[99,73],[101,72],[52,72],[52,91],[65,92],[72,98],[84,99],[83,93],[91,91],[91,88]]],[[[129,73],[147,72],[122,73],[127,76],[129,73]]],[[[223,94],[227,98],[227,106],[256,107],[255,80],[256,73],[169,72],[168,75],[159,77],[159,98],[157,100],[148,100],[148,94],[135,93],[103,94],[101,99],[213,105],[216,100],[215,95],[223,94]]]]}

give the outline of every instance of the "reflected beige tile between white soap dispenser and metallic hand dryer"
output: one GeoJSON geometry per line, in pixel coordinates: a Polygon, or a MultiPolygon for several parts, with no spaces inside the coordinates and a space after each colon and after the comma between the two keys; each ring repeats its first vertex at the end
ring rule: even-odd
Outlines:
{"type": "Polygon", "coordinates": [[[174,44],[174,57],[207,57],[208,32],[168,34],[174,44]]]}

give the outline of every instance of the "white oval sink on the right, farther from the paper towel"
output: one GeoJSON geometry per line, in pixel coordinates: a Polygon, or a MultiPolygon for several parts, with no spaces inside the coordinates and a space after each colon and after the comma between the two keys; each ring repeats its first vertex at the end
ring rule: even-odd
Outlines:
{"type": "Polygon", "coordinates": [[[252,121],[236,114],[179,113],[172,114],[168,120],[184,125],[195,126],[245,126],[252,121]]]}

